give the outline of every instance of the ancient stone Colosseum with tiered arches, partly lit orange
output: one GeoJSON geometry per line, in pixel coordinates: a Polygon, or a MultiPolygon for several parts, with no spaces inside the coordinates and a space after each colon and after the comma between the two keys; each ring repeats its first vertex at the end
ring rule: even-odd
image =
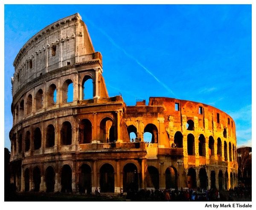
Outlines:
{"type": "Polygon", "coordinates": [[[35,34],[13,65],[10,164],[18,191],[237,186],[233,119],[199,102],[150,97],[127,106],[109,96],[102,55],[78,13],[35,34]],[[84,99],[90,81],[93,97],[84,99]]]}

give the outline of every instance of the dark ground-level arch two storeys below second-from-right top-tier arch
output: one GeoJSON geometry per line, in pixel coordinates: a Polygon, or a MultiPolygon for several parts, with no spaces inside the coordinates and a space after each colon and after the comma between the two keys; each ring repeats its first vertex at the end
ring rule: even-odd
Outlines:
{"type": "Polygon", "coordinates": [[[72,193],[72,169],[64,165],[61,170],[61,193],[72,193]]]}

